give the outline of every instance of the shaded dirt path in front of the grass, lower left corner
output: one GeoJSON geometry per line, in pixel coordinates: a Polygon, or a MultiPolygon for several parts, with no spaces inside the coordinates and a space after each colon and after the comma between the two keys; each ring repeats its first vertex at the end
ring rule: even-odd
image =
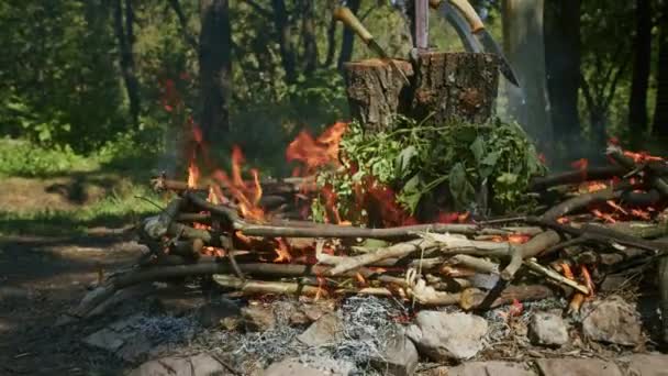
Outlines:
{"type": "Polygon", "coordinates": [[[118,375],[121,361],[81,343],[102,322],[55,322],[81,299],[99,265],[123,266],[140,250],[119,236],[0,240],[0,375],[118,375]]]}

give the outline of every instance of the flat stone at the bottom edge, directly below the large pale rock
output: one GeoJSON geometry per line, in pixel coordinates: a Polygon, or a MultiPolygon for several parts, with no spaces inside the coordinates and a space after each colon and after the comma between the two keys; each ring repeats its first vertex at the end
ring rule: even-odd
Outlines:
{"type": "Polygon", "coordinates": [[[437,367],[425,375],[430,376],[538,376],[526,363],[512,362],[470,362],[456,367],[437,367]]]}

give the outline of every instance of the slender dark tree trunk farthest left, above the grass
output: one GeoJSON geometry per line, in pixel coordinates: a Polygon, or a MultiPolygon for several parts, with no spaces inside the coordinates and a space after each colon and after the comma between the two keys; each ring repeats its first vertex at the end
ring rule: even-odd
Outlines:
{"type": "Polygon", "coordinates": [[[140,81],[135,75],[133,46],[134,37],[134,10],[132,9],[132,0],[125,0],[125,18],[123,18],[122,0],[114,1],[114,32],[119,41],[120,65],[125,89],[127,90],[127,100],[130,101],[130,117],[133,125],[136,128],[140,124],[140,81]],[[123,25],[125,21],[125,25],[123,25]]]}

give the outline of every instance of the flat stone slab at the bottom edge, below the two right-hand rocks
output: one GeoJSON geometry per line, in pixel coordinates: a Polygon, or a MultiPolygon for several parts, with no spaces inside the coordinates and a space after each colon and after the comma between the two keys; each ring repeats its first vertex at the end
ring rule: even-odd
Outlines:
{"type": "Polygon", "coordinates": [[[543,376],[622,376],[616,364],[593,358],[536,360],[536,365],[543,376]]]}

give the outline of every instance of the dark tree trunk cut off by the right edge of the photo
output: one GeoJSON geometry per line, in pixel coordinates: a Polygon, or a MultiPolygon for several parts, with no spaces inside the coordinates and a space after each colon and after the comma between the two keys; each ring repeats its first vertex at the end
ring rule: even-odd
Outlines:
{"type": "Polygon", "coordinates": [[[661,7],[659,27],[659,58],[653,133],[668,136],[668,1],[664,1],[661,7]]]}

